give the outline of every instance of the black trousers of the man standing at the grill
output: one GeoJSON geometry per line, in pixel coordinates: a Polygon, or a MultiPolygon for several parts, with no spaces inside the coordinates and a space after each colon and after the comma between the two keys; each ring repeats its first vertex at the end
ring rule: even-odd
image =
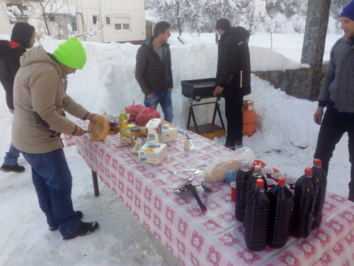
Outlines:
{"type": "Polygon", "coordinates": [[[244,128],[244,115],[242,103],[244,97],[225,98],[225,116],[227,119],[227,138],[225,145],[234,146],[235,142],[242,142],[244,128]]]}

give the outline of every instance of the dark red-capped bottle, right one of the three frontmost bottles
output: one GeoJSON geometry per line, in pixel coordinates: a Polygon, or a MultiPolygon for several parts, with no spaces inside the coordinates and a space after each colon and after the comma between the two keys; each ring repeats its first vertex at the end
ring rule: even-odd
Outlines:
{"type": "Polygon", "coordinates": [[[307,167],[305,174],[297,179],[294,188],[290,232],[295,238],[307,238],[311,233],[316,193],[317,186],[312,179],[312,169],[307,167]]]}

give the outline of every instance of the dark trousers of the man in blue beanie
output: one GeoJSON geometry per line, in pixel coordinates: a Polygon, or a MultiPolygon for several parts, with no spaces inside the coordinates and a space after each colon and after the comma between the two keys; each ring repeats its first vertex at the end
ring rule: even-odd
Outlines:
{"type": "Polygon", "coordinates": [[[322,160],[322,169],[329,172],[329,160],[333,155],[336,144],[344,133],[348,132],[349,161],[351,163],[349,189],[354,192],[354,117],[341,116],[333,111],[326,110],[324,120],[319,129],[315,159],[322,160]]]}

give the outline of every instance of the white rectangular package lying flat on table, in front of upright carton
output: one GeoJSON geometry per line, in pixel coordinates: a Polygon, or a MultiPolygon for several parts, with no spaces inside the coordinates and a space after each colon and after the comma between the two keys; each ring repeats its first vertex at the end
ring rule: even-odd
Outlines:
{"type": "Polygon", "coordinates": [[[145,143],[139,150],[139,161],[159,165],[167,157],[167,145],[164,143],[145,143]]]}

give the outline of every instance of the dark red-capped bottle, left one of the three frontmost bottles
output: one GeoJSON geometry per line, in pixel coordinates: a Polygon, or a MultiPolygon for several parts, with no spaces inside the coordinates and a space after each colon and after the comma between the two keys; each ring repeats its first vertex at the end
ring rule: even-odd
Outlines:
{"type": "Polygon", "coordinates": [[[263,187],[263,179],[256,181],[256,189],[246,203],[244,216],[245,242],[251,251],[261,251],[267,245],[270,201],[263,187]]]}

